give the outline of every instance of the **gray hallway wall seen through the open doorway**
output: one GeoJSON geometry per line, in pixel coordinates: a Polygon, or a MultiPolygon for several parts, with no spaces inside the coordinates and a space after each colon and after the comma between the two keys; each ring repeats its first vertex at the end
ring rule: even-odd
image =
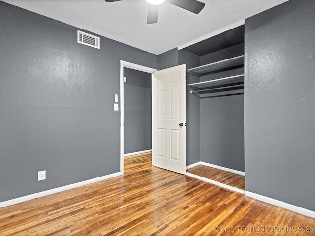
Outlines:
{"type": "Polygon", "coordinates": [[[151,149],[151,74],[124,68],[124,154],[151,149]]]}

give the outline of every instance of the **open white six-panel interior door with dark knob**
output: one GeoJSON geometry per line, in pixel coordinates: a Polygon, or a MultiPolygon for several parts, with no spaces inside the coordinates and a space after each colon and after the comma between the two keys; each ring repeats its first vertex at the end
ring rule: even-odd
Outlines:
{"type": "Polygon", "coordinates": [[[186,65],[154,72],[154,166],[186,174],[186,65]]]}

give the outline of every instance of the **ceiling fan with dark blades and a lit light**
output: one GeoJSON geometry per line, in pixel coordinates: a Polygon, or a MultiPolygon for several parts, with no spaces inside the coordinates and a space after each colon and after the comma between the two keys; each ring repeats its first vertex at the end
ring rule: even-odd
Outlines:
{"type": "MultiPolygon", "coordinates": [[[[106,2],[115,2],[115,1],[123,1],[123,0],[105,0],[106,2]]],[[[195,14],[198,14],[205,3],[197,1],[197,0],[146,0],[149,4],[148,9],[148,18],[147,24],[154,24],[158,22],[158,7],[164,1],[172,4],[174,6],[178,6],[195,14]]]]}

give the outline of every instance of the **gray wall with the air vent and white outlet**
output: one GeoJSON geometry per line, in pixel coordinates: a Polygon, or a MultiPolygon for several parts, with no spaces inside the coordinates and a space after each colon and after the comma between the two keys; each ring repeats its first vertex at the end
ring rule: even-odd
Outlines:
{"type": "Polygon", "coordinates": [[[1,1],[0,29],[0,202],[119,172],[120,60],[158,56],[1,1]]]}

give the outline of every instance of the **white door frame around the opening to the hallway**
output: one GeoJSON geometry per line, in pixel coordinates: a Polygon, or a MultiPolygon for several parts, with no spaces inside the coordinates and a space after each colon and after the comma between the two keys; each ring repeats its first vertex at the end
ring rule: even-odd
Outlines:
{"type": "MultiPolygon", "coordinates": [[[[120,61],[120,172],[121,175],[124,174],[124,68],[129,68],[133,70],[139,70],[142,72],[147,72],[151,74],[151,90],[152,90],[152,118],[154,117],[154,109],[153,109],[153,72],[156,72],[157,69],[149,68],[146,66],[130,63],[127,61],[120,61]]],[[[153,122],[152,122],[152,150],[153,150],[153,122]]],[[[153,163],[153,155],[152,155],[152,163],[153,163]]]]}

